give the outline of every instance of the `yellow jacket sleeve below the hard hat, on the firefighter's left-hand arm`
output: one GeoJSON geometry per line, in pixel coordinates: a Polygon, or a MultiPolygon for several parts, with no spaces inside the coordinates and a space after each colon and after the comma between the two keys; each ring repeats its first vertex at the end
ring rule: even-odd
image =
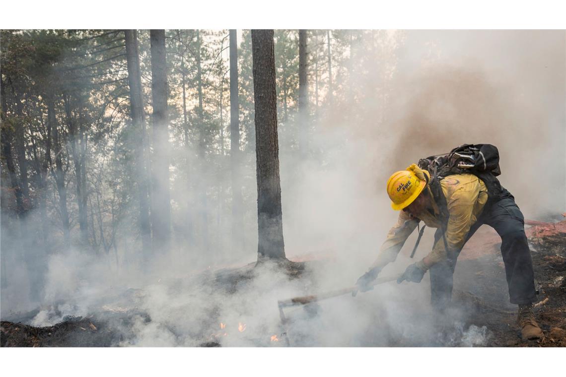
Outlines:
{"type": "Polygon", "coordinates": [[[387,239],[385,239],[383,245],[381,245],[378,257],[371,265],[371,268],[383,268],[388,265],[388,263],[395,261],[397,254],[417,227],[418,222],[419,220],[413,219],[408,213],[401,211],[397,223],[387,233],[387,239]]]}

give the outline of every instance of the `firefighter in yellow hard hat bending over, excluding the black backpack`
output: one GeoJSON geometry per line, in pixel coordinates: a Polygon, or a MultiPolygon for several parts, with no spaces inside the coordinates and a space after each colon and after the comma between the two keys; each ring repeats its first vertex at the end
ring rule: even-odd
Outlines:
{"type": "MultiPolygon", "coordinates": [[[[518,305],[518,325],[523,339],[541,339],[543,333],[534,318],[537,301],[533,262],[525,235],[524,217],[513,196],[507,193],[488,203],[488,189],[474,174],[448,175],[440,180],[445,203],[438,203],[430,189],[430,174],[412,164],[387,181],[387,193],[394,210],[400,210],[397,224],[387,234],[376,261],[357,281],[361,292],[372,289],[371,282],[388,263],[395,261],[406,239],[422,221],[437,228],[432,251],[413,263],[397,280],[419,283],[430,272],[431,304],[445,309],[452,298],[453,272],[460,250],[482,224],[494,228],[501,237],[501,255],[512,304],[518,305]],[[488,205],[486,205],[488,203],[488,205]],[[440,208],[445,206],[444,211],[440,208]],[[447,214],[447,219],[441,214],[447,214]]],[[[446,217],[446,215],[444,215],[446,217]]]]}

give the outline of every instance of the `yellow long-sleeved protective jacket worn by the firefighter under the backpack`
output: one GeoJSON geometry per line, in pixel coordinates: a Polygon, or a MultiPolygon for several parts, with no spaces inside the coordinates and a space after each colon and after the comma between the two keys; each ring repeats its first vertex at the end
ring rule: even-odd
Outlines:
{"type": "MultiPolygon", "coordinates": [[[[446,198],[449,214],[445,233],[448,248],[449,250],[460,250],[464,246],[470,227],[477,221],[487,202],[487,188],[483,181],[473,174],[449,175],[440,180],[440,187],[446,198]]],[[[426,190],[432,199],[430,190],[428,188],[426,190]]],[[[427,227],[441,227],[442,219],[440,219],[438,207],[434,200],[431,200],[431,203],[432,208],[412,216],[408,212],[400,211],[397,224],[387,233],[387,239],[381,245],[378,258],[372,267],[383,268],[388,263],[395,261],[397,254],[417,227],[419,220],[422,220],[427,227]]],[[[429,264],[443,261],[446,256],[442,240],[436,242],[432,251],[427,255],[429,264]]]]}

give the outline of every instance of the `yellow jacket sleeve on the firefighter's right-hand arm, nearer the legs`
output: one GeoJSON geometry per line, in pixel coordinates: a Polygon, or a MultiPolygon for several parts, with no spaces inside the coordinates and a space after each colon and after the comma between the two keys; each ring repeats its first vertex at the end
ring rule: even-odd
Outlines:
{"type": "MultiPolygon", "coordinates": [[[[466,241],[472,224],[476,222],[473,214],[474,205],[479,194],[479,185],[473,189],[457,189],[448,201],[448,224],[446,227],[446,243],[451,252],[460,250],[466,241]]],[[[444,240],[440,238],[432,251],[427,255],[429,267],[447,258],[444,240]]]]}

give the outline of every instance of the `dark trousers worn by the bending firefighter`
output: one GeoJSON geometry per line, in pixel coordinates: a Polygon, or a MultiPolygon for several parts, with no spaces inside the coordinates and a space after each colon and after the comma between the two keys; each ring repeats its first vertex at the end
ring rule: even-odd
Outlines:
{"type": "MultiPolygon", "coordinates": [[[[533,260],[525,235],[525,218],[521,210],[513,196],[488,203],[486,206],[477,223],[470,228],[466,242],[482,224],[494,228],[501,237],[501,256],[505,263],[509,301],[518,305],[537,301],[533,260]]],[[[435,233],[435,244],[436,242],[444,242],[440,228],[435,233]]],[[[438,309],[443,309],[451,301],[453,274],[458,254],[459,251],[448,255],[446,261],[436,263],[429,270],[431,304],[438,309]]]]}

